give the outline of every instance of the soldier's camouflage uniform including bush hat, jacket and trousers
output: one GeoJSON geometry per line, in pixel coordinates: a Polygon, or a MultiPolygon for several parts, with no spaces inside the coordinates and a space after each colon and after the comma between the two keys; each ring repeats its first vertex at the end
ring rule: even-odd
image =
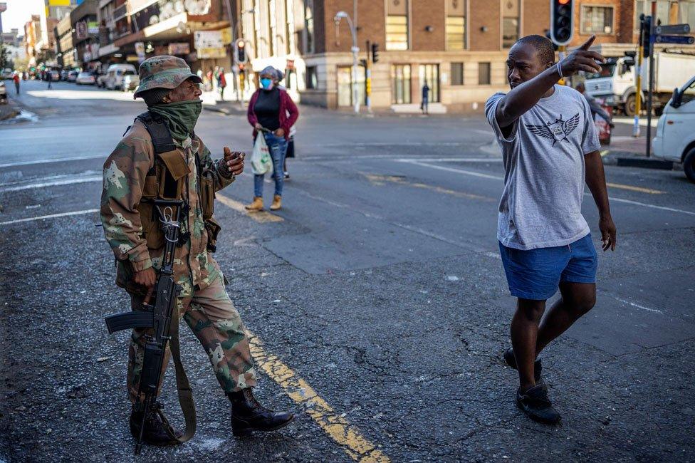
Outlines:
{"type": "MultiPolygon", "coordinates": [[[[150,67],[145,66],[145,61],[144,71],[141,66],[141,84],[137,91],[155,87],[175,88],[186,78],[195,76],[179,58],[157,58],[147,60],[155,61],[150,67]],[[164,59],[156,61],[157,58],[164,59]]],[[[182,157],[182,165],[189,170],[182,188],[182,199],[188,203],[189,209],[185,217],[182,215],[180,231],[182,235],[189,235],[185,243],[177,247],[174,259],[174,279],[182,287],[177,301],[179,316],[202,343],[225,392],[253,387],[256,373],[248,335],[239,312],[225,291],[219,265],[207,251],[208,231],[199,194],[201,188],[210,185],[199,185],[196,153],[199,166],[214,177],[211,184],[216,190],[234,182],[234,176],[229,175],[222,160],[214,162],[211,159],[210,151],[199,137],[174,140],[174,145],[182,157]]],[[[148,191],[152,189],[152,177],[148,172],[152,172],[153,167],[152,137],[145,124],[136,120],[104,163],[101,197],[101,220],[117,260],[116,284],[130,294],[133,310],[140,310],[144,291],[132,281],[133,272],[150,267],[160,269],[164,250],[163,243],[151,239],[155,234],[143,229],[143,217],[149,214],[144,210],[151,206],[141,199],[143,195],[153,194],[148,191]]],[[[155,221],[147,221],[147,224],[158,227],[155,221]]],[[[137,400],[145,335],[148,333],[146,329],[135,329],[132,333],[127,385],[133,402],[137,400]]]]}

